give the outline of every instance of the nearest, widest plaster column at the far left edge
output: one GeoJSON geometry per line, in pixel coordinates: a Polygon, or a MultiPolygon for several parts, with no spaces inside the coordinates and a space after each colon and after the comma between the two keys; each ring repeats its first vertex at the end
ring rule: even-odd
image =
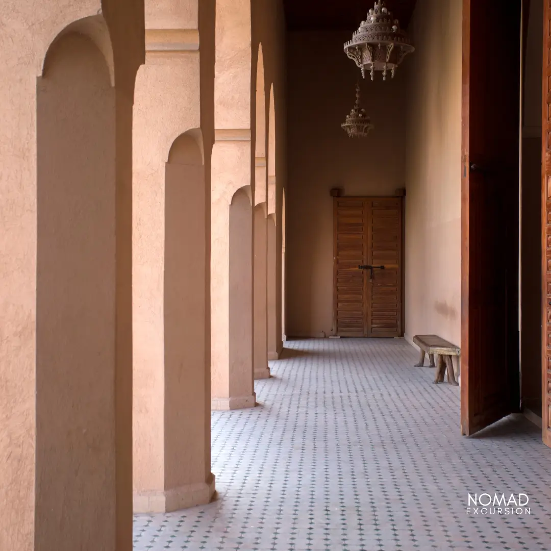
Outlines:
{"type": "Polygon", "coordinates": [[[3,20],[0,549],[132,549],[143,32],[129,0],[21,2],[3,20]]]}

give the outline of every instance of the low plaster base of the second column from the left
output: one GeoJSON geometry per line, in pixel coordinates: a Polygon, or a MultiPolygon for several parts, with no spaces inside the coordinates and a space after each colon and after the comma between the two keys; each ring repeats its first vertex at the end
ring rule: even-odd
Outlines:
{"type": "Polygon", "coordinates": [[[215,477],[211,473],[207,482],[186,484],[164,491],[134,491],[133,509],[135,513],[168,513],[188,509],[188,507],[210,503],[214,492],[215,477]]]}

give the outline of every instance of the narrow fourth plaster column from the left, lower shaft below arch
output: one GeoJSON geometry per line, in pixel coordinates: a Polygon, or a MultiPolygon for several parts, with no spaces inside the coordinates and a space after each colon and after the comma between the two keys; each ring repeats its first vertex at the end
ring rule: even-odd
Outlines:
{"type": "Polygon", "coordinates": [[[266,203],[255,207],[255,379],[269,379],[266,203]]]}

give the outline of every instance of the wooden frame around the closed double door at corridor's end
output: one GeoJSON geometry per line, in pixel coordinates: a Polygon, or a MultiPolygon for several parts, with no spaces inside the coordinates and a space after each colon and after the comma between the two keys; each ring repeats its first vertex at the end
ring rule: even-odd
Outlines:
{"type": "Polygon", "coordinates": [[[404,296],[405,296],[405,287],[406,287],[406,269],[404,268],[404,247],[406,242],[406,210],[405,210],[405,193],[402,195],[343,195],[343,196],[334,196],[333,197],[333,316],[332,316],[332,326],[331,326],[331,335],[333,337],[337,336],[337,241],[334,238],[337,235],[337,202],[338,199],[393,199],[398,200],[401,209],[401,219],[400,219],[400,247],[398,253],[399,266],[400,266],[400,310],[398,312],[400,316],[400,336],[404,336],[405,331],[405,305],[404,305],[404,296]]]}

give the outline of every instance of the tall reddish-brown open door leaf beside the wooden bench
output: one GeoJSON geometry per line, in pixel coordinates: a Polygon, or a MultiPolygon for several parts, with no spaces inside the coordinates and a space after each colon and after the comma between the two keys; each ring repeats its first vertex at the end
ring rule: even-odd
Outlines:
{"type": "Polygon", "coordinates": [[[463,0],[461,430],[466,435],[520,409],[520,52],[520,0],[506,6],[503,0],[463,0]]]}

